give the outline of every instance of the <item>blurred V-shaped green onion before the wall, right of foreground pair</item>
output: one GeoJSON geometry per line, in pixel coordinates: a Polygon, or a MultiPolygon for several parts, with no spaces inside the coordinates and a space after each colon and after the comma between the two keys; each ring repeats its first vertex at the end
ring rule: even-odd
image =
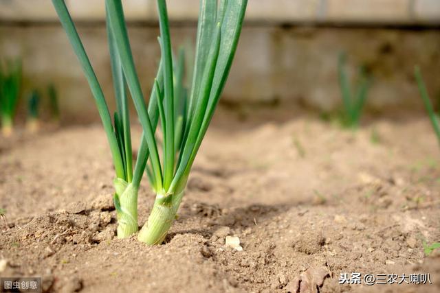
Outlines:
{"type": "Polygon", "coordinates": [[[349,128],[358,128],[362,109],[364,108],[371,79],[364,67],[359,68],[359,76],[354,90],[351,89],[346,67],[347,56],[341,53],[338,58],[338,76],[344,106],[342,113],[342,125],[349,128]]]}

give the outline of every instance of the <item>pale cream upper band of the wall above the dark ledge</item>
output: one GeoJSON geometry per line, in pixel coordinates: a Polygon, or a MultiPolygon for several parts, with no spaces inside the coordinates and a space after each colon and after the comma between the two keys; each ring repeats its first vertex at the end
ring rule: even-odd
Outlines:
{"type": "MultiPolygon", "coordinates": [[[[129,21],[154,21],[156,0],[124,0],[129,21]]],[[[102,20],[104,0],[65,0],[74,17],[102,20]]],[[[168,0],[173,21],[197,19],[199,0],[168,0]]],[[[438,0],[249,0],[248,21],[439,23],[438,0]]],[[[53,21],[50,0],[1,0],[0,19],[5,21],[53,21]]]]}

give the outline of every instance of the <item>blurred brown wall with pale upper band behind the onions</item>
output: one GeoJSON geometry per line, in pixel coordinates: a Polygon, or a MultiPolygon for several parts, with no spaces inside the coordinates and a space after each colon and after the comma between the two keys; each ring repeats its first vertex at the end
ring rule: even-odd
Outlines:
{"type": "MultiPolygon", "coordinates": [[[[193,44],[199,0],[167,2],[173,45],[193,44]]],[[[104,0],[66,3],[104,93],[112,95],[104,0]]],[[[123,3],[146,94],[159,58],[155,0],[123,3]]],[[[362,65],[373,76],[367,110],[423,110],[413,69],[420,65],[432,97],[440,100],[439,28],[439,0],[249,0],[222,104],[333,110],[341,103],[338,54],[345,52],[349,73],[362,65]]],[[[98,120],[50,0],[0,1],[0,57],[22,58],[23,93],[55,85],[63,122],[98,120]]]]}

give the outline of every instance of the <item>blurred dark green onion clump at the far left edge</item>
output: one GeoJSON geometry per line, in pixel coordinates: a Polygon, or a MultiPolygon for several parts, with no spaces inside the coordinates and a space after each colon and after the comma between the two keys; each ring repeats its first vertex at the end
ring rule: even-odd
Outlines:
{"type": "Polygon", "coordinates": [[[0,64],[0,116],[1,132],[9,137],[13,131],[15,110],[21,86],[21,60],[6,60],[0,64]]]}

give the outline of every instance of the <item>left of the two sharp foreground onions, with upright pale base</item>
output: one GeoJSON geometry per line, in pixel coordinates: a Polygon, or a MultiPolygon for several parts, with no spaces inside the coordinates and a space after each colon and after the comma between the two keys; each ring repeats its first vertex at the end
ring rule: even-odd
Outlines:
{"type": "MultiPolygon", "coordinates": [[[[116,178],[113,181],[115,186],[115,194],[113,201],[118,216],[118,237],[124,238],[137,231],[137,192],[140,187],[140,181],[148,159],[148,146],[146,138],[151,140],[155,131],[158,110],[157,110],[157,89],[163,90],[162,86],[162,65],[159,65],[157,73],[157,86],[151,92],[150,102],[148,104],[148,114],[144,100],[140,102],[141,107],[145,110],[148,117],[148,126],[146,136],[142,134],[140,148],[137,154],[137,160],[133,172],[133,154],[131,149],[131,132],[128,98],[126,93],[126,73],[122,71],[122,63],[125,62],[118,54],[116,46],[115,34],[113,27],[109,23],[109,14],[107,13],[107,34],[109,40],[109,52],[111,60],[111,72],[113,77],[113,87],[116,100],[116,111],[113,116],[113,123],[106,99],[102,93],[101,86],[96,78],[95,71],[91,66],[87,53],[83,47],[83,43],[78,36],[76,27],[67,10],[63,0],[52,0],[61,24],[67,33],[70,43],[74,48],[75,54],[80,61],[80,65],[86,75],[91,92],[94,96],[98,113],[101,117],[104,130],[107,134],[111,154],[113,157],[113,165],[115,167],[116,178]]],[[[108,3],[106,3],[106,7],[108,3]]],[[[131,76],[129,75],[131,78],[131,76]]],[[[157,154],[155,154],[157,156],[157,154]]]]}

